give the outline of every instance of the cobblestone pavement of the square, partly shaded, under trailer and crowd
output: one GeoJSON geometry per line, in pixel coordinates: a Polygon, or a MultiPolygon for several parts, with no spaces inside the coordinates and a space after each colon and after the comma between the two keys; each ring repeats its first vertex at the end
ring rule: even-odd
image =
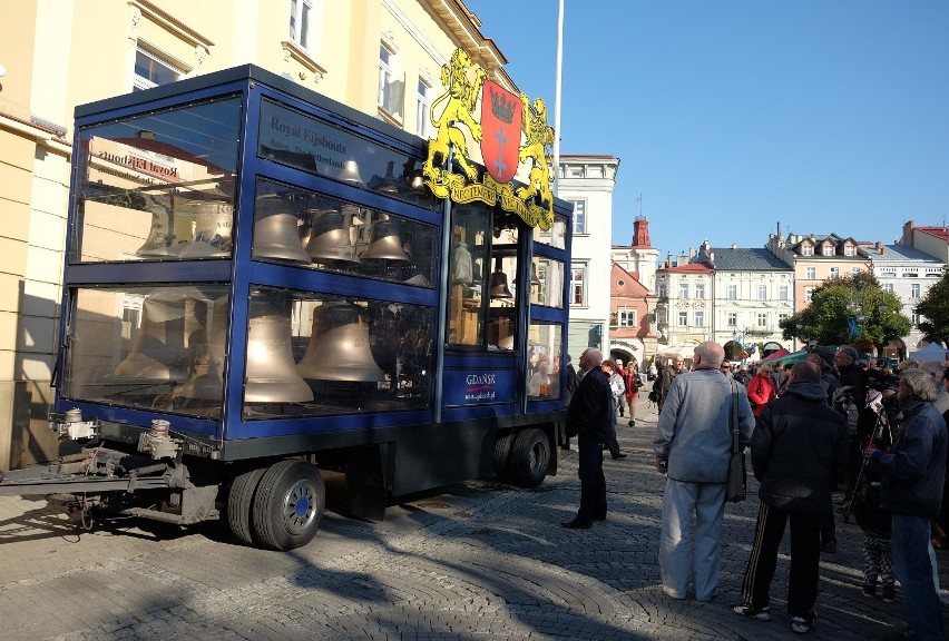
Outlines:
{"type": "MultiPolygon", "coordinates": [[[[622,423],[629,457],[606,458],[609,517],[591,530],[559,525],[579,497],[576,452],[561,452],[559,474],[536,490],[452,485],[390,507],[383,523],[330,510],[316,539],[290,553],[236,545],[222,524],[149,530],[129,521],[81,532],[55,501],[0,499],[2,638],[799,638],[784,614],[785,554],[772,621],[727,608],[740,601],[756,499],[726,509],[718,596],[662,595],[663,477],[649,448],[656,414],[643,401],[638,415],[636,427],[622,423]]],[[[902,599],[860,592],[859,529],[839,520],[838,538],[840,551],[822,559],[820,618],[809,637],[874,639],[900,629],[902,599]]],[[[939,554],[949,585],[949,554],[939,554]]]]}

